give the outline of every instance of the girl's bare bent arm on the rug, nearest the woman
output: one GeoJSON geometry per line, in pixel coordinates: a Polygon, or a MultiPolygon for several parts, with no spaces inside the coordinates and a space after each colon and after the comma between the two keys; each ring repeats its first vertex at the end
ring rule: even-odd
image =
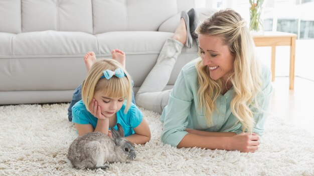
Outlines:
{"type": "Polygon", "coordinates": [[[133,129],[135,133],[125,137],[130,142],[136,143],[136,144],[144,144],[150,140],[150,129],[149,129],[148,123],[146,122],[144,118],[139,123],[139,125],[133,129]]]}

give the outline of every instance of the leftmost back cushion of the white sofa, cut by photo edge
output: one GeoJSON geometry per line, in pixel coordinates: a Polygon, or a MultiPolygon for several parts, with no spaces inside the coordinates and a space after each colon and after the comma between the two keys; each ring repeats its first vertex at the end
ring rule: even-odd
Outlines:
{"type": "Polygon", "coordinates": [[[0,32],[21,32],[21,0],[0,0],[0,32]]]}

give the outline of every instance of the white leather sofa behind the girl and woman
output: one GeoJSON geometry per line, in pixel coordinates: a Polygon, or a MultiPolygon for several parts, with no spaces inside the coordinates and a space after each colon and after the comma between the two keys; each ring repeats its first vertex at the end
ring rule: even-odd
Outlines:
{"type": "MultiPolygon", "coordinates": [[[[0,104],[69,102],[83,55],[126,53],[136,92],[194,0],[0,0],[0,104]]],[[[213,10],[203,9],[201,18],[213,10]]],[[[194,42],[196,43],[196,42],[194,42]]],[[[197,57],[184,48],[169,80],[197,57]]]]}

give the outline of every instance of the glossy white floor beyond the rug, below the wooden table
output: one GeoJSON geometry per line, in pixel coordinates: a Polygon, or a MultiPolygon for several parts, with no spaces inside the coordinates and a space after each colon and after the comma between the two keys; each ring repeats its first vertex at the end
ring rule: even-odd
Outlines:
{"type": "Polygon", "coordinates": [[[314,134],[314,81],[295,77],[289,90],[289,77],[275,77],[270,113],[314,134]]]}

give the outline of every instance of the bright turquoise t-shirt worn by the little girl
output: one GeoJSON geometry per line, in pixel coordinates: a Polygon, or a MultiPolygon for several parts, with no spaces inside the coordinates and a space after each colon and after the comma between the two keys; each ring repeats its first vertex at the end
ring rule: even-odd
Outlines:
{"type": "MultiPolygon", "coordinates": [[[[134,134],[133,128],[137,127],[143,119],[142,112],[138,107],[131,102],[130,108],[126,113],[124,113],[125,102],[123,103],[121,109],[116,112],[117,123],[120,123],[124,129],[124,136],[129,136],[134,134]]],[[[83,100],[78,101],[72,107],[72,122],[78,124],[91,124],[95,129],[98,118],[92,115],[87,109],[83,100]]],[[[117,125],[114,129],[118,129],[117,125]]]]}

